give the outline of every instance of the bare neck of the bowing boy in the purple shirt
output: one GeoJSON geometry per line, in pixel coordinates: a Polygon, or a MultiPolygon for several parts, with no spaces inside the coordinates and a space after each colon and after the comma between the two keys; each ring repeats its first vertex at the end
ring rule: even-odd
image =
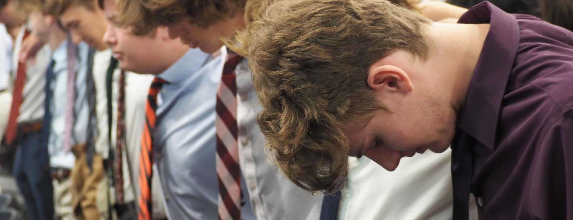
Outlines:
{"type": "Polygon", "coordinates": [[[428,30],[430,54],[426,63],[432,64],[427,68],[434,73],[441,73],[438,80],[449,91],[451,96],[448,98],[457,113],[468,93],[489,24],[434,22],[429,25],[428,30]]]}

